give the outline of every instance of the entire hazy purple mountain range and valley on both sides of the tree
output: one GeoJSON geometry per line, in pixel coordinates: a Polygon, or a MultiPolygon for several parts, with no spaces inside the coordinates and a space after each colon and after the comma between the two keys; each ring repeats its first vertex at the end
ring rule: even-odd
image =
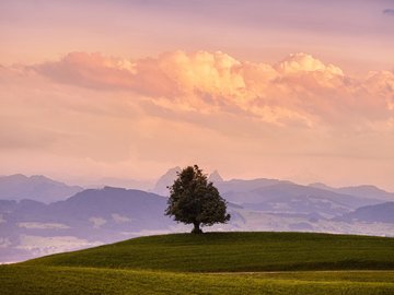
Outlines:
{"type": "MultiPolygon", "coordinates": [[[[44,176],[0,181],[0,262],[155,233],[188,232],[164,216],[175,167],[152,191],[83,189],[44,176]]],[[[394,236],[394,198],[372,186],[331,188],[279,179],[209,179],[228,201],[229,224],[210,231],[301,231],[394,236]],[[389,201],[389,202],[387,202],[389,201]],[[390,202],[392,201],[392,202],[390,202]]]]}

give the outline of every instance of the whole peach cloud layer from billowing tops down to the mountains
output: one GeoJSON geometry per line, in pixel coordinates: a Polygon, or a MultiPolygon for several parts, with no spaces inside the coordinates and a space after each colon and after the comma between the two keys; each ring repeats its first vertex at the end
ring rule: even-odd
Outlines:
{"type": "Polygon", "coordinates": [[[303,52],[273,64],[220,51],[71,52],[0,67],[3,174],[150,178],[192,162],[391,184],[393,130],[392,71],[352,78],[303,52]]]}

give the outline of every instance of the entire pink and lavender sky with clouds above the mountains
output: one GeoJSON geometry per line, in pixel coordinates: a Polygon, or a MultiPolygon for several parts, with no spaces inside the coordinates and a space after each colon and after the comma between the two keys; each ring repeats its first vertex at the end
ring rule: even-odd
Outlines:
{"type": "Polygon", "coordinates": [[[0,2],[0,175],[394,191],[394,1],[0,2]]]}

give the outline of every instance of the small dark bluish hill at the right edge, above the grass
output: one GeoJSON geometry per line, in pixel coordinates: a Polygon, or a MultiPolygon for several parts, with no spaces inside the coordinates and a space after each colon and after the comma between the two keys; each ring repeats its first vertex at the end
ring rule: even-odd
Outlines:
{"type": "Polygon", "coordinates": [[[339,217],[340,221],[370,222],[370,223],[393,223],[394,224],[394,202],[386,202],[376,205],[367,205],[357,209],[339,217]]]}

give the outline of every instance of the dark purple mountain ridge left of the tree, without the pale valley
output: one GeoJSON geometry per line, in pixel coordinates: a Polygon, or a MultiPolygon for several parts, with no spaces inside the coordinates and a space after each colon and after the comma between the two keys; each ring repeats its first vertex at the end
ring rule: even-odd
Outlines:
{"type": "Polygon", "coordinates": [[[134,189],[86,189],[50,204],[22,200],[16,205],[5,205],[9,210],[3,217],[9,221],[11,217],[19,223],[62,224],[68,228],[62,228],[62,233],[84,238],[103,238],[112,235],[114,228],[118,235],[120,231],[166,228],[172,223],[164,216],[166,198],[134,189]]]}

